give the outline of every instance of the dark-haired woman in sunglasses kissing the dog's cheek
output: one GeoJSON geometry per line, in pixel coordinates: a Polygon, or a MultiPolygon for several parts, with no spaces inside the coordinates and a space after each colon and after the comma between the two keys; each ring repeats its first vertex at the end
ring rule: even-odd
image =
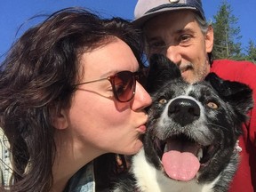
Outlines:
{"type": "Polygon", "coordinates": [[[146,130],[140,43],[128,22],[75,8],[20,37],[0,75],[2,190],[111,186],[114,154],[138,152],[146,130]]]}

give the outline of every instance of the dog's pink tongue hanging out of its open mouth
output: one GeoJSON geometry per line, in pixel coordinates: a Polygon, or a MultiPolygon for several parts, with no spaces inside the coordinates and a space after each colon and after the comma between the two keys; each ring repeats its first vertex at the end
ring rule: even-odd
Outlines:
{"type": "Polygon", "coordinates": [[[192,150],[191,145],[189,147],[190,151],[170,150],[162,156],[164,171],[173,180],[188,181],[196,177],[200,163],[194,155],[196,151],[192,150]]]}

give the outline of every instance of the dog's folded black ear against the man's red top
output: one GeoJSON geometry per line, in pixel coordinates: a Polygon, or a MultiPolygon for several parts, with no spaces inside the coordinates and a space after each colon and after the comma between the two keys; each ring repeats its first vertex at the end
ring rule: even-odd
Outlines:
{"type": "Polygon", "coordinates": [[[235,81],[223,80],[214,73],[210,73],[205,80],[212,84],[220,98],[235,106],[236,112],[245,116],[253,107],[252,89],[246,85],[235,81]]]}

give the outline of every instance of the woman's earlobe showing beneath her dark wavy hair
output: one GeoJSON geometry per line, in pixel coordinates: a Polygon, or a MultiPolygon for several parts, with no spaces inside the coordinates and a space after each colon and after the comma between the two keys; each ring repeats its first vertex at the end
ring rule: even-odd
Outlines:
{"type": "Polygon", "coordinates": [[[51,109],[52,114],[52,126],[56,129],[63,130],[68,128],[68,115],[67,110],[61,108],[52,108],[51,109]]]}

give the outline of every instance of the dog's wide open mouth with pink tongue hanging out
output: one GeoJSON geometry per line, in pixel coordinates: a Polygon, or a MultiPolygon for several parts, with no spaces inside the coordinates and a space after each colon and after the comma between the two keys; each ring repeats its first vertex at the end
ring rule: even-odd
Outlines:
{"type": "Polygon", "coordinates": [[[195,178],[217,150],[214,145],[203,146],[183,134],[159,141],[157,146],[164,172],[173,180],[183,181],[195,178]]]}

